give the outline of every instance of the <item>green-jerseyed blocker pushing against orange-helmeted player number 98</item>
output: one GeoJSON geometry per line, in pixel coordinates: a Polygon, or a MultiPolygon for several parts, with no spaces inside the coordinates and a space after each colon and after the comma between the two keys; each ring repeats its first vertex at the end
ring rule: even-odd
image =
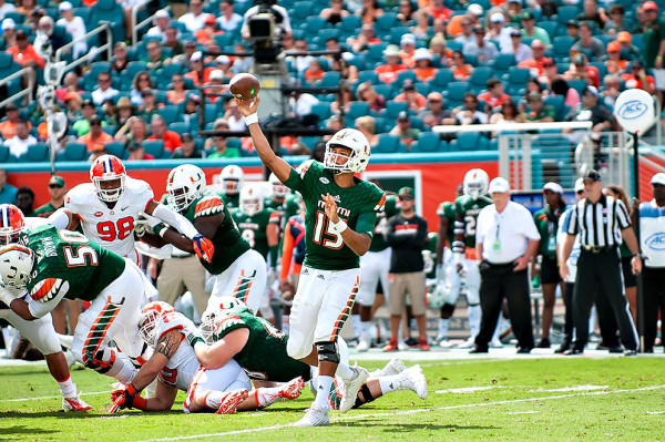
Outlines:
{"type": "MultiPolygon", "coordinates": [[[[241,235],[217,193],[208,191],[203,171],[192,164],[175,167],[166,182],[168,206],[184,215],[196,229],[224,253],[213,255],[211,263],[201,259],[205,269],[215,277],[208,304],[223,295],[233,294],[253,311],[258,311],[266,287],[266,261],[241,235]]],[[[145,216],[145,215],[144,215],[145,216]]],[[[193,253],[192,240],[173,228],[165,228],[158,219],[145,216],[153,234],[142,239],[153,247],[173,244],[181,250],[193,253]]]]}

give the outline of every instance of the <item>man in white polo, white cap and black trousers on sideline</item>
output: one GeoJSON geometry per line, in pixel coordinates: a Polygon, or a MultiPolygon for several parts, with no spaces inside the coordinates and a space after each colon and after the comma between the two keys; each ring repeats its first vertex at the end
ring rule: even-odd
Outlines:
{"type": "Polygon", "coordinates": [[[526,207],[510,201],[510,185],[492,179],[489,193],[494,204],[484,207],[475,225],[475,255],[480,263],[482,318],[471,353],[487,353],[497,328],[503,298],[508,299],[518,353],[533,349],[531,304],[526,268],[538,253],[540,234],[526,207]]]}

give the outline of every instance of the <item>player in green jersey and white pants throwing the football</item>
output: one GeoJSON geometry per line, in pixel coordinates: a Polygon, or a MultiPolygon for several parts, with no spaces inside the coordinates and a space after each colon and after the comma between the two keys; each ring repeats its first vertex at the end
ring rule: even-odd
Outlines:
{"type": "Polygon", "coordinates": [[[340,411],[348,411],[367,380],[367,370],[339,364],[337,337],[360,285],[359,256],[369,249],[383,192],[359,179],[370,146],[362,133],[348,129],[326,144],[324,164],[308,161],[298,171],[275,155],[256,110],[260,99],[236,99],[262,162],[305,201],[306,255],[290,313],[288,354],[304,359],[316,345],[319,381],[315,402],[297,426],[328,425],[330,387],[337,373],[345,381],[340,411]]]}

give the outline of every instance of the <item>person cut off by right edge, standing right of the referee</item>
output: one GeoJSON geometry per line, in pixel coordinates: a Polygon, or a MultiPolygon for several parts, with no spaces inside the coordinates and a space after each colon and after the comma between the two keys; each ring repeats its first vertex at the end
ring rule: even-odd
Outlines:
{"type": "MultiPolygon", "coordinates": [[[[644,352],[654,352],[658,332],[658,310],[665,307],[665,174],[651,181],[654,199],[640,205],[640,241],[644,255],[642,289],[644,294],[644,352]]],[[[661,311],[661,316],[665,312],[661,311]]]]}

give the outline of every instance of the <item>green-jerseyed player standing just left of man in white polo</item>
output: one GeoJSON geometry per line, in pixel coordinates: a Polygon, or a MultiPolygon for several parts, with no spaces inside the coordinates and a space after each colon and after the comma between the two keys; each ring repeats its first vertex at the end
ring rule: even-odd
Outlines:
{"type": "Polygon", "coordinates": [[[454,201],[453,267],[446,275],[448,296],[442,309],[450,311],[452,316],[460,291],[466,288],[471,336],[461,348],[472,347],[475,335],[480,331],[480,270],[475,257],[475,220],[480,210],[492,204],[485,196],[489,182],[490,178],[482,168],[472,168],[464,175],[464,194],[454,201]]]}

